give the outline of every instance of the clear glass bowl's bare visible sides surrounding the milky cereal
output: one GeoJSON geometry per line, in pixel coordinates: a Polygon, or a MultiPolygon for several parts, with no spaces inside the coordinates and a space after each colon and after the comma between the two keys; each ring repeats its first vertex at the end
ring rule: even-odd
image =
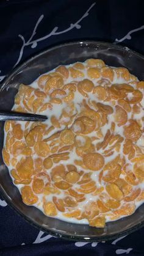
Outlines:
{"type": "MultiPolygon", "coordinates": [[[[144,57],[126,47],[95,41],[64,43],[37,54],[10,73],[0,90],[0,109],[6,111],[12,108],[15,94],[21,83],[31,84],[38,76],[60,64],[83,62],[88,58],[103,59],[107,65],[113,67],[126,67],[133,75],[140,80],[144,80],[144,57]]],[[[49,218],[37,208],[25,205],[20,192],[12,183],[7,167],[2,161],[3,128],[4,122],[1,122],[0,192],[5,201],[35,227],[68,240],[106,241],[127,235],[144,225],[144,204],[131,216],[109,222],[103,229],[49,218]]]]}

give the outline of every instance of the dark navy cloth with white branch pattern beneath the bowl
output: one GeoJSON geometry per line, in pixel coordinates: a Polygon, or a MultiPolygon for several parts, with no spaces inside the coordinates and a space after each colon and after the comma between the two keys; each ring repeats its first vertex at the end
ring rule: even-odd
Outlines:
{"type": "MultiPolygon", "coordinates": [[[[0,80],[16,64],[66,40],[117,42],[144,53],[143,0],[1,0],[0,10],[0,80]]],[[[0,200],[2,256],[141,256],[143,235],[141,229],[106,243],[64,241],[35,229],[0,200]]]]}

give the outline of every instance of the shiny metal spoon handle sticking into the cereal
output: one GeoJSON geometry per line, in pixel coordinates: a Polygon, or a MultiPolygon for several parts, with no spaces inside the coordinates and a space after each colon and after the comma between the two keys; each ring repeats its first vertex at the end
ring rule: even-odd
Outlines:
{"type": "Polygon", "coordinates": [[[31,122],[43,122],[48,117],[46,115],[37,115],[29,113],[20,113],[20,112],[5,112],[0,111],[0,121],[13,120],[13,121],[31,121],[31,122]]]}

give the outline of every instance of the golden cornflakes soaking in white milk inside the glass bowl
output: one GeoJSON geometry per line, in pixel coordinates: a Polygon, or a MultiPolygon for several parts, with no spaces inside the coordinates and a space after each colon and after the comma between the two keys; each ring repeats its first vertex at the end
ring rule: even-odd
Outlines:
{"type": "Polygon", "coordinates": [[[103,228],[144,202],[144,82],[101,59],[60,65],[20,85],[2,156],[23,202],[46,216],[103,228]]]}

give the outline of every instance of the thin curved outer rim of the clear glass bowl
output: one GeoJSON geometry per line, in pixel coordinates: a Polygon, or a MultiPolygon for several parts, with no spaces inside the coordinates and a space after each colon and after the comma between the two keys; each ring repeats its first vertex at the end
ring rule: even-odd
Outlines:
{"type": "MultiPolygon", "coordinates": [[[[56,43],[55,45],[51,45],[48,48],[46,48],[43,51],[40,51],[39,53],[34,54],[34,56],[32,57],[28,57],[26,60],[24,60],[20,65],[16,66],[15,68],[12,69],[12,71],[10,71],[5,78],[2,80],[2,82],[0,83],[0,92],[1,90],[4,89],[5,84],[7,84],[7,81],[9,81],[9,79],[12,78],[12,76],[14,76],[16,73],[18,73],[19,70],[21,70],[21,68],[24,68],[27,64],[29,64],[29,62],[31,62],[31,60],[36,59],[37,57],[40,57],[41,55],[48,53],[49,51],[52,51],[54,49],[57,48],[61,48],[63,46],[69,46],[69,45],[80,45],[80,46],[88,46],[89,43],[93,43],[96,45],[104,45],[107,47],[111,47],[113,49],[120,49],[123,51],[129,51],[130,54],[134,54],[138,57],[140,57],[141,59],[144,60],[144,56],[140,53],[137,53],[137,51],[134,51],[132,49],[129,49],[127,46],[122,46],[122,45],[117,45],[117,43],[109,43],[109,42],[103,42],[103,41],[97,41],[97,40],[72,40],[70,42],[65,42],[65,43],[56,43]]],[[[49,235],[52,235],[54,237],[57,238],[63,238],[64,240],[68,240],[68,241],[83,241],[83,242],[88,242],[88,243],[92,243],[92,242],[101,242],[101,241],[109,241],[109,240],[113,240],[113,239],[117,239],[120,236],[126,236],[129,235],[132,232],[135,232],[137,230],[139,230],[141,227],[144,226],[144,221],[140,222],[137,225],[134,225],[133,227],[124,230],[120,233],[117,234],[113,234],[113,235],[103,235],[103,236],[92,236],[91,237],[84,237],[84,236],[80,236],[80,235],[66,235],[63,233],[60,233],[59,231],[52,231],[49,229],[46,229],[45,227],[41,227],[41,225],[37,224],[36,222],[32,221],[31,218],[27,217],[26,215],[24,215],[20,210],[18,210],[18,208],[16,208],[15,205],[13,205],[12,200],[10,200],[9,196],[7,196],[7,194],[5,193],[4,189],[1,186],[1,181],[0,181],[0,194],[2,195],[3,199],[5,200],[5,202],[7,203],[7,205],[10,206],[10,208],[12,208],[19,216],[21,216],[26,222],[28,222],[29,224],[31,224],[33,227],[37,228],[38,230],[41,230],[45,233],[48,233],[49,235]]],[[[128,218],[124,217],[124,218],[128,218]]],[[[94,227],[94,229],[96,229],[96,227],[94,227]]]]}

